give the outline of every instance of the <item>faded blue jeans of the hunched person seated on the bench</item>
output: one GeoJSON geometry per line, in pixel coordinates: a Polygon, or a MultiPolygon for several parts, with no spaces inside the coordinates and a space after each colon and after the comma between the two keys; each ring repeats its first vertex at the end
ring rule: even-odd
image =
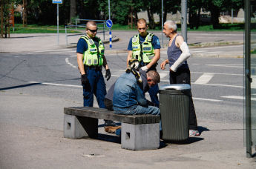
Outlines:
{"type": "MultiPolygon", "coordinates": [[[[114,113],[116,114],[152,114],[152,115],[158,115],[160,116],[160,110],[158,107],[154,106],[148,106],[148,107],[142,107],[140,105],[134,105],[129,108],[119,108],[119,107],[114,107],[114,113]]],[[[159,124],[160,130],[162,130],[162,122],[160,120],[159,124]]]]}

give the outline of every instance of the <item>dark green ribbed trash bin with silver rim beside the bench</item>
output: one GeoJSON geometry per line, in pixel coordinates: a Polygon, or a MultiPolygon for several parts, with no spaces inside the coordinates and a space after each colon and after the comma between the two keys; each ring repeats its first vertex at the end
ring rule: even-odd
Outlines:
{"type": "Polygon", "coordinates": [[[163,140],[184,141],[188,139],[189,84],[160,85],[160,113],[163,140]]]}

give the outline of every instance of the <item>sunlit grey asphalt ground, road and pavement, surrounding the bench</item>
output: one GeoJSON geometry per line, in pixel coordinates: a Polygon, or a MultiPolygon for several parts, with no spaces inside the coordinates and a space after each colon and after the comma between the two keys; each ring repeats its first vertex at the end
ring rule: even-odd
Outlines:
{"type": "MultiPolygon", "coordinates": [[[[82,106],[75,48],[53,49],[56,39],[51,35],[47,39],[33,35],[25,44],[19,38],[4,40],[0,42],[0,50],[7,52],[0,53],[0,168],[255,168],[255,159],[246,159],[243,146],[242,58],[200,55],[210,49],[191,48],[188,64],[201,136],[189,138],[186,144],[134,152],[121,149],[113,139],[63,138],[63,107],[82,106]],[[8,48],[13,46],[19,50],[8,48]]],[[[126,48],[125,41],[119,43],[120,49],[126,48]]],[[[211,52],[219,50],[215,47],[211,52]]],[[[125,70],[126,54],[114,52],[106,54],[112,73],[107,88],[125,70]]],[[[166,59],[165,52],[161,50],[160,62],[166,59]]],[[[158,70],[160,84],[168,84],[168,71],[158,70]]],[[[102,125],[99,133],[105,136],[102,125]]]]}

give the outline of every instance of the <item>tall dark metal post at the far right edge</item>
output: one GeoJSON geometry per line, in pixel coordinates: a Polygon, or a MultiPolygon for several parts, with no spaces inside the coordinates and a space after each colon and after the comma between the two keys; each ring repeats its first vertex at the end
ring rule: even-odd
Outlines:
{"type": "Polygon", "coordinates": [[[252,114],[251,114],[251,5],[245,1],[245,95],[246,95],[246,157],[252,157],[252,114]]]}

